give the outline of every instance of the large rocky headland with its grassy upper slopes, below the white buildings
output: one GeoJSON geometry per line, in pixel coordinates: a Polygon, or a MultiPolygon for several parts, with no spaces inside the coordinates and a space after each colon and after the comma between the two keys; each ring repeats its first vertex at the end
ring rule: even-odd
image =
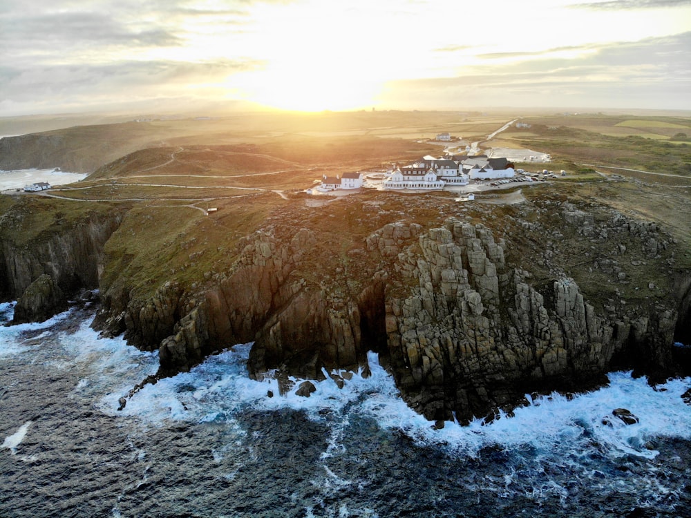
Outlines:
{"type": "Polygon", "coordinates": [[[102,264],[96,327],[158,349],[161,375],[250,341],[257,378],[322,378],[374,350],[416,410],[467,421],[533,390],[594,387],[613,369],[680,372],[679,247],[657,224],[589,200],[296,197],[244,236],[237,213],[162,213],[126,213],[91,256],[102,264]]]}

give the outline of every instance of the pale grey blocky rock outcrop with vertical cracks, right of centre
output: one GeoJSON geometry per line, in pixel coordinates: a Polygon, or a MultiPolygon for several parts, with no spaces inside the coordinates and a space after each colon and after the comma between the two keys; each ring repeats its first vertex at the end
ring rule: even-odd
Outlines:
{"type": "Polygon", "coordinates": [[[505,249],[484,226],[452,220],[399,253],[410,292],[387,297],[388,350],[401,391],[428,419],[464,421],[536,388],[592,387],[623,355],[669,372],[674,311],[610,320],[571,278],[538,291],[507,267],[505,249]]]}

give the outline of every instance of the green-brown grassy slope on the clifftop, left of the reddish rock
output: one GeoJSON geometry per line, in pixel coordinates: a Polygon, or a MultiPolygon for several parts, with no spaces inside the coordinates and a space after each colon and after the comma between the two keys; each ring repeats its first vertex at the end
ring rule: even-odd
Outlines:
{"type": "Polygon", "coordinates": [[[281,200],[254,195],[215,205],[218,212],[209,216],[187,207],[136,205],[106,244],[102,289],[148,300],[170,280],[194,291],[207,272],[230,269],[238,240],[258,229],[281,200]]]}

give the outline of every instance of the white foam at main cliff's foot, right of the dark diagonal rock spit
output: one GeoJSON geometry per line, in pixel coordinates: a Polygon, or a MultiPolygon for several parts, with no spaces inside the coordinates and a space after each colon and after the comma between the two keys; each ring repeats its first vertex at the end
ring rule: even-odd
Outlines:
{"type": "MultiPolygon", "coordinates": [[[[647,443],[654,437],[691,439],[691,412],[680,397],[691,383],[688,378],[654,389],[645,378],[634,379],[630,373],[616,372],[609,374],[609,387],[580,394],[571,401],[555,393],[516,409],[511,418],[502,415],[489,425],[476,419],[468,426],[447,422],[444,429],[434,430],[432,422],[401,399],[392,376],[379,365],[376,354],[368,355],[370,377],[354,374],[344,381],[342,389],[330,377],[313,381],[316,391],[304,398],[295,394],[301,380],[292,378],[293,389],[279,395],[276,380],[250,379],[245,368],[250,347],[238,345],[207,358],[191,372],[147,385],[133,396],[123,413],[138,414],[159,424],[167,419],[230,423],[236,412],[248,407],[303,410],[311,419],[324,419],[322,414],[328,410],[330,416],[336,414],[339,418],[330,421],[333,428],[323,459],[343,452],[341,439],[352,413],[371,416],[382,428],[402,430],[419,443],[443,445],[469,455],[488,445],[529,447],[540,452],[580,441],[598,443],[614,457],[634,454],[652,458],[656,451],[648,449],[647,443]],[[267,396],[269,391],[273,397],[267,396]],[[625,425],[614,418],[612,410],[618,407],[630,410],[640,422],[625,425]]],[[[117,397],[112,396],[106,406],[114,412],[117,397]]]]}

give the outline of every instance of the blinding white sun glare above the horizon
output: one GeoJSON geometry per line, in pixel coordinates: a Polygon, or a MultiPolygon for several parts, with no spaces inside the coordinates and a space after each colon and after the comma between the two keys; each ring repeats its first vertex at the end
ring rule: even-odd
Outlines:
{"type": "Polygon", "coordinates": [[[245,45],[261,66],[229,77],[229,88],[248,101],[283,110],[377,106],[395,53],[388,52],[387,59],[374,55],[381,46],[353,29],[363,24],[358,13],[329,6],[316,0],[272,4],[271,9],[256,4],[256,30],[245,45]]]}

